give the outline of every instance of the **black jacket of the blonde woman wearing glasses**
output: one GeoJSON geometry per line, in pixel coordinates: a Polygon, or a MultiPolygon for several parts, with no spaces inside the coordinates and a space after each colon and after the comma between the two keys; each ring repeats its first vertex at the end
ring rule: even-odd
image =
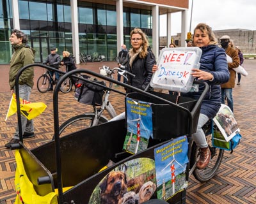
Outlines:
{"type": "MultiPolygon", "coordinates": [[[[152,78],[152,67],[156,64],[156,58],[152,50],[148,48],[148,54],[145,58],[140,58],[140,55],[134,59],[130,66],[130,56],[128,55],[127,71],[135,75],[134,78],[128,76],[128,84],[138,89],[144,90],[150,83],[152,78]]],[[[130,91],[127,91],[130,92],[130,91]]]]}

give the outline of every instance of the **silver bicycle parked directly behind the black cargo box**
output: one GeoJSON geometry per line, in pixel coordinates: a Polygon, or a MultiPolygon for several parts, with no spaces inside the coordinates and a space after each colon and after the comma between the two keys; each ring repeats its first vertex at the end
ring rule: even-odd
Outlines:
{"type": "MultiPolygon", "coordinates": [[[[125,77],[125,75],[131,75],[132,77],[134,77],[132,73],[129,73],[124,69],[110,69],[108,66],[103,66],[102,68],[100,68],[100,74],[109,78],[114,78],[113,74],[115,73],[115,71],[118,71],[118,74],[122,75],[123,77],[125,77]]],[[[92,126],[96,126],[98,124],[102,124],[104,122],[108,122],[108,118],[103,115],[105,110],[106,112],[108,112],[108,115],[111,119],[113,117],[116,117],[115,108],[113,108],[109,101],[109,95],[111,93],[112,87],[113,83],[109,82],[109,89],[106,90],[102,98],[102,105],[100,107],[93,105],[93,112],[76,115],[71,119],[68,119],[67,121],[63,122],[63,124],[61,124],[60,126],[60,136],[67,135],[68,133],[74,133],[75,131],[79,131],[80,129],[89,128],[92,126]]]]}

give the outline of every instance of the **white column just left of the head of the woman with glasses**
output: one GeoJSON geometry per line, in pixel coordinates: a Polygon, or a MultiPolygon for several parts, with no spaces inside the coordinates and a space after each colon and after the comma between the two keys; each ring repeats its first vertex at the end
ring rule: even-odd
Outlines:
{"type": "Polygon", "coordinates": [[[124,44],[124,19],[123,19],[123,0],[116,1],[116,49],[124,44]]]}

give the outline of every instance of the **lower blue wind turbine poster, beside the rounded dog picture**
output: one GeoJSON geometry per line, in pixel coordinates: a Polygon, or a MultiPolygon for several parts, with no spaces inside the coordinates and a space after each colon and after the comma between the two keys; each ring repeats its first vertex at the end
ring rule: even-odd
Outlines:
{"type": "Polygon", "coordinates": [[[168,200],[188,187],[188,138],[180,136],[154,150],[157,198],[168,200]]]}

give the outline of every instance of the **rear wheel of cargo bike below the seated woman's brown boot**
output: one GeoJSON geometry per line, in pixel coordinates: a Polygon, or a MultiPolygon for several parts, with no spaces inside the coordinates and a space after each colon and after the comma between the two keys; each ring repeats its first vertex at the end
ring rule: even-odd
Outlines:
{"type": "MultiPolygon", "coordinates": [[[[209,145],[211,150],[211,161],[209,162],[208,166],[203,170],[199,170],[196,168],[193,171],[193,175],[196,180],[200,182],[207,182],[208,180],[212,179],[214,175],[216,175],[218,169],[220,168],[220,164],[223,158],[224,151],[223,149],[218,149],[216,147],[212,147],[212,135],[206,135],[206,141],[209,145]]],[[[193,143],[192,150],[191,150],[191,163],[196,163],[196,158],[199,156],[199,148],[196,147],[196,143],[193,143]]]]}

